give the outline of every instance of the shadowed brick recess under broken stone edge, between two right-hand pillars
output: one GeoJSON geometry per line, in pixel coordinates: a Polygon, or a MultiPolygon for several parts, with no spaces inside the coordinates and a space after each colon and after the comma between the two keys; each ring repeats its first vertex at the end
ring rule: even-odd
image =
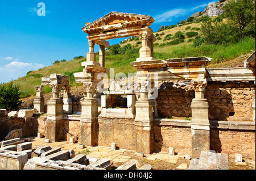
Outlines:
{"type": "Polygon", "coordinates": [[[191,82],[166,81],[159,83],[158,116],[191,117],[191,102],[195,98],[191,82]]]}

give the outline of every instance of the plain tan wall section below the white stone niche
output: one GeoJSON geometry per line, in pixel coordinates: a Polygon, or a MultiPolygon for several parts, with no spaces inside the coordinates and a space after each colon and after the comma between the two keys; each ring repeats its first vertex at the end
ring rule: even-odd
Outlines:
{"type": "Polygon", "coordinates": [[[136,133],[134,119],[108,119],[98,117],[96,123],[97,145],[136,150],[136,133]]]}

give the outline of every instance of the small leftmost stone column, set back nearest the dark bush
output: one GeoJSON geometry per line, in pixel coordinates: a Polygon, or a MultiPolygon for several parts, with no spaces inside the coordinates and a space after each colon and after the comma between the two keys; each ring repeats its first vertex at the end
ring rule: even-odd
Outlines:
{"type": "Polygon", "coordinates": [[[34,108],[40,113],[44,113],[44,86],[35,86],[36,96],[34,99],[34,108]]]}

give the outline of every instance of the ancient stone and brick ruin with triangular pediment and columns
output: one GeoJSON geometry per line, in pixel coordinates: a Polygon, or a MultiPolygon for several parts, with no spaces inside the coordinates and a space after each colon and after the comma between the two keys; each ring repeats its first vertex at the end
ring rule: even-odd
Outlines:
{"type": "MultiPolygon", "coordinates": [[[[115,143],[143,154],[175,148],[176,152],[200,159],[201,151],[214,150],[229,157],[241,153],[255,160],[255,52],[243,68],[207,69],[209,57],[155,60],[155,36],[150,28],[153,22],[147,15],[110,12],[86,23],[82,31],[88,34],[89,52],[81,63],[83,71],[74,73],[76,82],[82,84],[82,96],[71,94],[67,75],[43,77],[42,85],[35,87],[34,110],[19,110],[9,116],[6,110],[0,110],[0,138],[4,140],[10,131],[22,129],[22,137],[39,132],[52,142],[74,138],[86,146],[115,143]],[[142,39],[139,57],[131,62],[137,74],[102,81],[109,74],[105,68],[107,40],[129,36],[142,39]],[[99,62],[94,53],[96,44],[100,45],[99,62]],[[43,97],[46,85],[52,87],[52,98],[47,102],[43,97]],[[47,115],[40,116],[45,104],[47,115]]],[[[32,158],[26,165],[20,153],[15,157],[19,162],[16,168],[109,166],[109,160],[90,163],[84,156],[69,158],[67,151],[56,150],[51,157],[32,158]]],[[[13,158],[13,152],[0,153],[4,159],[9,155],[13,158]]],[[[127,163],[119,169],[133,166],[127,163]]]]}

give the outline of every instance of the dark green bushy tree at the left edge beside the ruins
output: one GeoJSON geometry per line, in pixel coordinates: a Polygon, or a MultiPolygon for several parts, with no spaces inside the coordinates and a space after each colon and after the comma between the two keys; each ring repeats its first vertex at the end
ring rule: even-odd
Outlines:
{"type": "Polygon", "coordinates": [[[20,99],[19,87],[14,86],[13,82],[8,85],[0,84],[0,108],[7,111],[17,110],[22,104],[20,99]]]}

